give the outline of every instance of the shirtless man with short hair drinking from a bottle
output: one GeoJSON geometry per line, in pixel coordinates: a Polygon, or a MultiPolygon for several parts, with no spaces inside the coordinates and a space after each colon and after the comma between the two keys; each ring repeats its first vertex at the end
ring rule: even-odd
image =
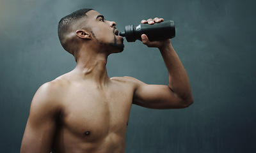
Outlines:
{"type": "MultiPolygon", "coordinates": [[[[143,24],[163,18],[142,20],[143,24]]],[[[109,78],[109,54],[124,50],[116,23],[95,10],[79,10],[61,19],[61,45],[74,55],[76,68],[36,92],[22,139],[22,153],[121,153],[131,105],[186,108],[193,103],[189,79],[170,40],[142,42],[157,47],[169,85],[148,85],[132,77],[109,78]]]]}

